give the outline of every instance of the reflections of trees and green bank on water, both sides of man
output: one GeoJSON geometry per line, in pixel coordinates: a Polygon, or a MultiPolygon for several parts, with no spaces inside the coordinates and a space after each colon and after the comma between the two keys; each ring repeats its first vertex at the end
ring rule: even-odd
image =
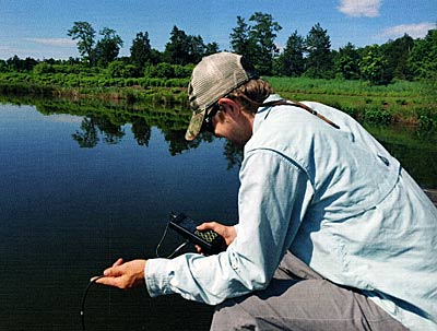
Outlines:
{"type": "MultiPolygon", "coordinates": [[[[0,99],[1,101],[1,99],[0,99]]],[[[72,139],[80,147],[93,149],[99,143],[118,144],[126,135],[126,126],[141,146],[149,146],[152,128],[164,134],[170,155],[197,149],[202,142],[214,140],[209,132],[201,133],[196,141],[184,139],[190,111],[180,108],[163,108],[154,105],[131,105],[104,103],[102,101],[59,101],[59,99],[11,99],[9,103],[35,104],[44,114],[70,114],[83,117],[82,123],[72,139]]],[[[387,150],[401,161],[414,178],[424,187],[437,187],[437,131],[432,127],[375,126],[366,129],[376,137],[387,150]]],[[[243,151],[226,142],[223,151],[228,169],[239,167],[243,151]]]]}

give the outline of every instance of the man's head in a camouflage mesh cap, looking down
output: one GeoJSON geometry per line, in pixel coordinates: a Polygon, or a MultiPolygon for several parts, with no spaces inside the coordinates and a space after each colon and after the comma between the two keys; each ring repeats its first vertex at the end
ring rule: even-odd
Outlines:
{"type": "Polygon", "coordinates": [[[204,57],[194,68],[188,86],[193,115],[186,139],[193,140],[206,128],[232,140],[228,131],[245,123],[247,115],[253,115],[271,93],[270,85],[258,79],[241,56],[218,52],[204,57]],[[217,128],[217,122],[229,125],[217,128]]]}

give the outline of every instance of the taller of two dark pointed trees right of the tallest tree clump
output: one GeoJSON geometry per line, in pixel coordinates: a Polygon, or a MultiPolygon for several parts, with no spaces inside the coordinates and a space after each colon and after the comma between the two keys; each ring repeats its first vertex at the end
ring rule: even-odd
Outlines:
{"type": "Polygon", "coordinates": [[[317,23],[309,31],[305,46],[308,52],[305,74],[316,79],[332,78],[331,40],[328,31],[317,23]]]}

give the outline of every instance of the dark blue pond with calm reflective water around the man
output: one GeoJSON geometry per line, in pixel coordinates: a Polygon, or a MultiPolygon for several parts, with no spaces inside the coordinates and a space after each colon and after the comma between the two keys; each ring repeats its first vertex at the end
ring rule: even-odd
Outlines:
{"type": "MultiPolygon", "coordinates": [[[[153,258],[170,211],[237,220],[240,153],[224,140],[187,143],[184,120],[152,110],[85,108],[0,105],[1,330],[81,330],[88,279],[119,257],[153,258]]],[[[435,134],[369,130],[421,185],[437,188],[435,134]]],[[[180,241],[169,232],[160,251],[180,241]]],[[[211,312],[178,296],[151,299],[145,287],[95,285],[85,322],[209,330],[211,312]]]]}

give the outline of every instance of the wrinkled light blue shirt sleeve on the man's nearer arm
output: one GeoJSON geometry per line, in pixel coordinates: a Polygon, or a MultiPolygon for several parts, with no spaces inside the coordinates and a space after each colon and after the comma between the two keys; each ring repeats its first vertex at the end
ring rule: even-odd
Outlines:
{"type": "Polygon", "coordinates": [[[144,274],[151,296],[180,294],[216,305],[267,287],[296,235],[312,187],[298,165],[269,150],[246,155],[240,181],[234,243],[215,256],[149,260],[144,274]]]}

